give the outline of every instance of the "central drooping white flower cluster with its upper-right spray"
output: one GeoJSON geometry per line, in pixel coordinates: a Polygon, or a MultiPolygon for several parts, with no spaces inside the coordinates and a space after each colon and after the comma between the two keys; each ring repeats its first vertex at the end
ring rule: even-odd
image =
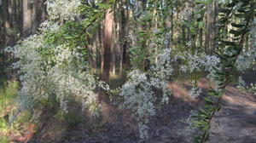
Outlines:
{"type": "Polygon", "coordinates": [[[148,138],[148,120],[155,115],[156,108],[167,103],[171,92],[167,89],[167,79],[172,76],[172,49],[164,49],[158,58],[158,64],[152,66],[148,72],[132,70],[128,73],[128,80],[120,89],[120,96],[124,100],[125,108],[130,109],[137,118],[141,139],[148,138]],[[162,91],[162,94],[157,91],[162,91]]]}

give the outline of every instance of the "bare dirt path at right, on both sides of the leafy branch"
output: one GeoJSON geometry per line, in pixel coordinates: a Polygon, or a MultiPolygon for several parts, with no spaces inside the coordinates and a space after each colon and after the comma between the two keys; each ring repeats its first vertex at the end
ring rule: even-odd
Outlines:
{"type": "MultiPolygon", "coordinates": [[[[154,134],[147,143],[192,143],[192,131],[188,124],[180,122],[189,111],[201,106],[201,101],[193,102],[188,98],[188,91],[175,84],[174,96],[181,99],[177,106],[167,105],[153,123],[154,134]],[[165,120],[165,118],[167,118],[165,120]],[[155,135],[158,134],[158,135],[155,135]]],[[[207,90],[207,80],[202,79],[200,86],[207,90]]],[[[187,87],[187,89],[189,89],[187,87]]],[[[213,117],[210,140],[207,143],[256,143],[256,95],[228,86],[223,97],[220,112],[213,117]]]]}

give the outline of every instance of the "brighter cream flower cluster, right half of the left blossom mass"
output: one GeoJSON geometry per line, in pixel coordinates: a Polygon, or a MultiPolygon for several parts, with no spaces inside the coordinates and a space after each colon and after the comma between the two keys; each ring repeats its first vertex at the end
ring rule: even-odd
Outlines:
{"type": "Polygon", "coordinates": [[[83,72],[84,59],[79,52],[60,45],[54,49],[55,66],[49,69],[49,79],[55,84],[55,94],[60,100],[70,97],[82,100],[84,107],[96,108],[96,80],[89,72],[83,72]]]}

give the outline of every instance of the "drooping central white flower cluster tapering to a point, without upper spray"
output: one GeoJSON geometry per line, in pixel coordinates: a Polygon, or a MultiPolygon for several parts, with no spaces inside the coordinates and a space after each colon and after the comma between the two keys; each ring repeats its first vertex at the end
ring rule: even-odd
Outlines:
{"type": "Polygon", "coordinates": [[[155,114],[155,102],[157,100],[154,89],[160,89],[160,80],[148,77],[145,72],[133,70],[128,74],[128,80],[121,88],[121,97],[124,106],[131,109],[137,117],[141,139],[148,137],[148,117],[155,114]]]}

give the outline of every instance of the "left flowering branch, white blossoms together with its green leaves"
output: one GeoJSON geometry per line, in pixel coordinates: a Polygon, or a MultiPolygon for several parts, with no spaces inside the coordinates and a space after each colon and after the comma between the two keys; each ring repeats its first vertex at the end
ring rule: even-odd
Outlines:
{"type": "Polygon", "coordinates": [[[78,0],[47,3],[49,18],[38,35],[27,37],[13,49],[6,49],[19,59],[13,65],[20,73],[19,110],[35,110],[45,101],[56,101],[60,112],[67,113],[68,101],[78,100],[84,108],[96,111],[97,79],[89,71],[87,43],[81,41],[114,1],[105,5],[98,3],[101,10],[82,5],[78,0]],[[93,9],[90,14],[87,8],[93,9]],[[84,20],[76,20],[79,11],[81,16],[87,16],[84,20]],[[57,20],[63,21],[55,22],[57,20]]]}

